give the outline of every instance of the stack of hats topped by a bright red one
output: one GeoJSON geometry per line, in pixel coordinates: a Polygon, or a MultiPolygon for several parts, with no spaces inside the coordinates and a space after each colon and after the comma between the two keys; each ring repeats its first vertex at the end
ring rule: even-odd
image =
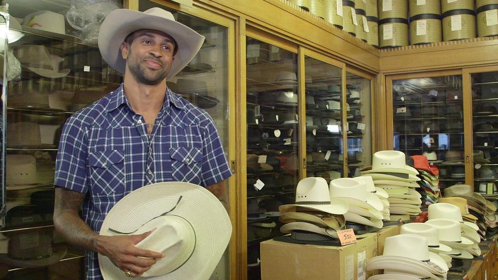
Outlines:
{"type": "Polygon", "coordinates": [[[425,191],[425,201],[427,204],[436,203],[441,197],[439,190],[439,169],[429,163],[426,156],[411,156],[414,167],[418,170],[418,177],[421,179],[418,183],[425,191]]]}

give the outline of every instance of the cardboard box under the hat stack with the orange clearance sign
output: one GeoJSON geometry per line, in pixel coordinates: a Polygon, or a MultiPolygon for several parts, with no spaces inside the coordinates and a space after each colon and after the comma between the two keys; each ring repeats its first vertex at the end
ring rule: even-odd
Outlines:
{"type": "Polygon", "coordinates": [[[377,233],[346,246],[261,242],[262,280],[365,280],[366,261],[377,256],[377,233]],[[359,261],[358,261],[359,260],[359,261]]]}

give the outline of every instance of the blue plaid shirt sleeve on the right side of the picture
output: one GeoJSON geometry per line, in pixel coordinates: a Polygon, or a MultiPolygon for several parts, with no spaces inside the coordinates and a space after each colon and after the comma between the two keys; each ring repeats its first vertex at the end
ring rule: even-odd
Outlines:
{"type": "Polygon", "coordinates": [[[202,185],[219,183],[232,175],[226,161],[218,130],[209,117],[202,135],[202,185]]]}

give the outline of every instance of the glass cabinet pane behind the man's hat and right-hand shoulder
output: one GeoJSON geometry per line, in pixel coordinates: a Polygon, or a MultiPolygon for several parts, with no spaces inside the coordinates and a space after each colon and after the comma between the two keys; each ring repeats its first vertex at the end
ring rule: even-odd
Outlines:
{"type": "MultiPolygon", "coordinates": [[[[228,152],[228,28],[180,13],[148,0],[139,1],[139,10],[159,7],[175,19],[192,28],[206,39],[192,61],[175,77],[167,81],[173,92],[181,94],[213,118],[225,153],[228,152]]],[[[228,158],[228,155],[225,155],[228,158]]],[[[227,186],[226,197],[229,187],[227,186]]],[[[227,201],[230,203],[229,201],[227,201]]],[[[230,278],[230,257],[227,248],[211,278],[230,278]]]]}

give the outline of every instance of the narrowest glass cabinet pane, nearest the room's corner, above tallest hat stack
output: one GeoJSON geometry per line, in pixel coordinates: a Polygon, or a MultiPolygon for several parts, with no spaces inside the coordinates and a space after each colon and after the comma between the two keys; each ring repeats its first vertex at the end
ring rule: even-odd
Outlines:
{"type": "Polygon", "coordinates": [[[371,165],[371,81],[346,72],[348,177],[371,165]]]}

